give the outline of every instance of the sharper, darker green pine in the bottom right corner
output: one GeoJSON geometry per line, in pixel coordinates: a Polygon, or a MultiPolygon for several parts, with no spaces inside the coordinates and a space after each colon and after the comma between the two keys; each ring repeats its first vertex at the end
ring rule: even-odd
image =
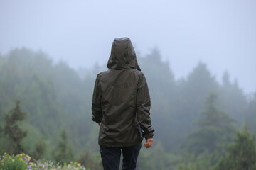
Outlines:
{"type": "Polygon", "coordinates": [[[255,136],[251,135],[245,125],[242,132],[238,132],[234,143],[228,147],[228,153],[216,170],[250,170],[256,169],[255,136]]]}

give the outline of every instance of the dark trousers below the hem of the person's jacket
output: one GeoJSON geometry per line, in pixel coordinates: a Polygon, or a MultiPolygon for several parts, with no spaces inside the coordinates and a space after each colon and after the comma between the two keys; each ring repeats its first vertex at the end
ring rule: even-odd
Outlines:
{"type": "Polygon", "coordinates": [[[132,147],[102,147],[100,146],[100,155],[104,170],[118,170],[122,151],[122,170],[136,170],[137,158],[142,144],[132,147]]]}

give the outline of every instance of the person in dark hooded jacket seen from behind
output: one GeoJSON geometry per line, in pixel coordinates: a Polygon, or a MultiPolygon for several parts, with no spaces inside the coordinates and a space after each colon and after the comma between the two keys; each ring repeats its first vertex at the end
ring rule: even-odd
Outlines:
{"type": "Polygon", "coordinates": [[[142,147],[153,143],[149,89],[129,38],[115,38],[107,63],[97,74],[92,96],[92,120],[100,125],[98,143],[105,170],[136,169],[142,147]]]}

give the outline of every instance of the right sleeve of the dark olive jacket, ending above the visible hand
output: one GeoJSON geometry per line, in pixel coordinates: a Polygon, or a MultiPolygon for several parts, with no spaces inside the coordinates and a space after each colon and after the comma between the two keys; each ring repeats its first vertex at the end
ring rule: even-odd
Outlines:
{"type": "Polygon", "coordinates": [[[142,135],[146,139],[152,138],[154,135],[154,129],[151,128],[151,119],[150,119],[150,96],[149,89],[146,84],[146,78],[144,74],[140,72],[139,82],[137,86],[137,119],[139,125],[142,128],[142,135]]]}

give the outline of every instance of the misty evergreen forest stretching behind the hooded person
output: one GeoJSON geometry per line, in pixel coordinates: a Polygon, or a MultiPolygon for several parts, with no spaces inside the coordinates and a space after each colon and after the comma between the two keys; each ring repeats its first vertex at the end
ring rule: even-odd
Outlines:
{"type": "MultiPolygon", "coordinates": [[[[155,129],[153,147],[142,148],[137,169],[256,169],[256,91],[245,94],[228,72],[218,81],[203,62],[176,79],[157,49],[137,60],[155,129]]],[[[26,48],[0,54],[0,155],[102,169],[91,106],[97,73],[106,69],[107,61],[75,70],[26,48]]]]}

